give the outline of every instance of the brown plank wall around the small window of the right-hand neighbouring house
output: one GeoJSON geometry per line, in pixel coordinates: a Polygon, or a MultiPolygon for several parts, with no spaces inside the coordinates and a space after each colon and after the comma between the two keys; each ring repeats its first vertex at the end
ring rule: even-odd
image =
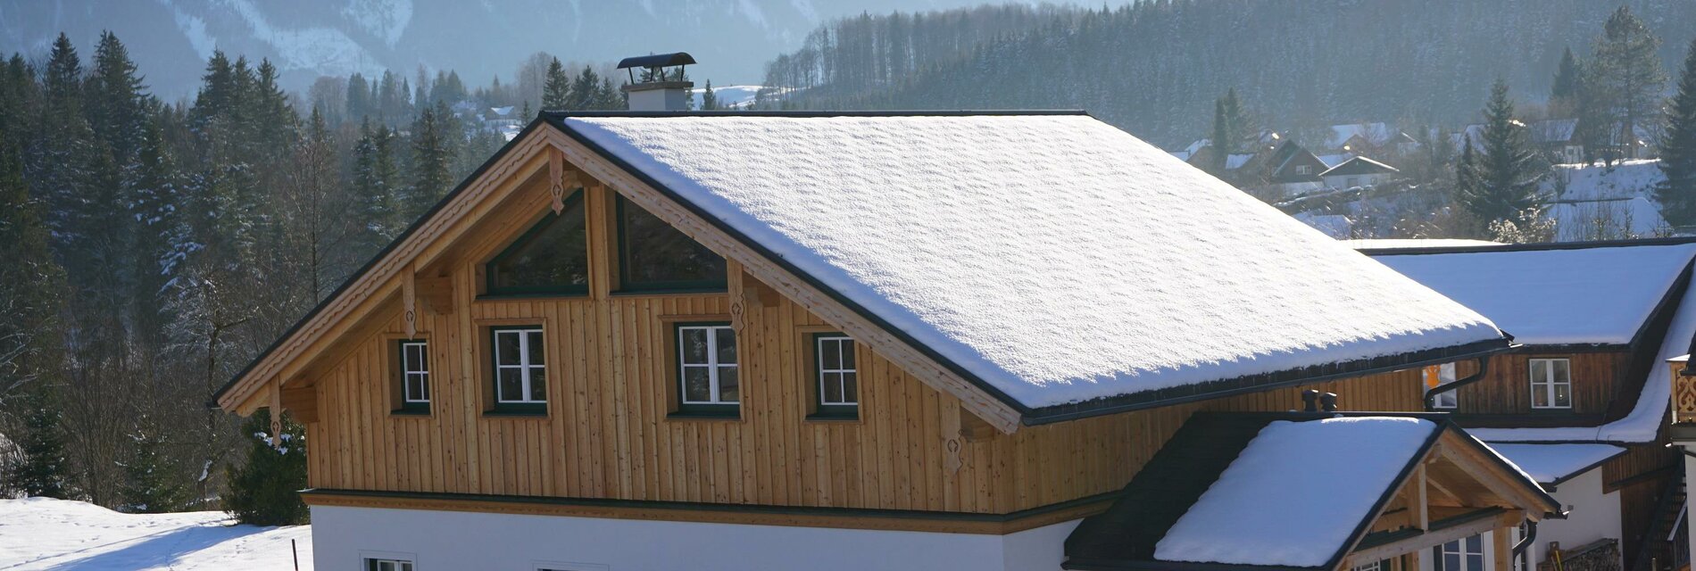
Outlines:
{"type": "MultiPolygon", "coordinates": [[[[1531,359],[1572,359],[1572,410],[1574,415],[1601,415],[1608,412],[1620,378],[1630,368],[1632,354],[1567,352],[1567,354],[1498,354],[1491,358],[1489,373],[1482,381],[1460,388],[1462,413],[1531,413],[1531,359]]],[[[1477,364],[1462,363],[1457,376],[1477,371],[1477,364]]],[[[1545,410],[1537,410],[1538,413],[1545,410]]],[[[1557,412],[1559,413],[1559,412],[1557,412]]]]}

